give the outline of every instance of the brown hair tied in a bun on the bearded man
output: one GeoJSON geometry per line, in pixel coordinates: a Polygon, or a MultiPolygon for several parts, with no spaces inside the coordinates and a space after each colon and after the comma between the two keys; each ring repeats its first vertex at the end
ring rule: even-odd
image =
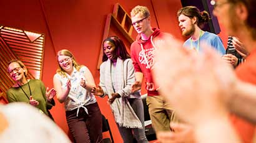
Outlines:
{"type": "Polygon", "coordinates": [[[202,11],[195,7],[195,6],[186,6],[179,9],[177,12],[177,17],[179,17],[181,14],[184,14],[187,17],[190,17],[192,19],[193,17],[197,18],[197,25],[202,28],[205,23],[209,22],[210,16],[207,11],[202,11]]]}

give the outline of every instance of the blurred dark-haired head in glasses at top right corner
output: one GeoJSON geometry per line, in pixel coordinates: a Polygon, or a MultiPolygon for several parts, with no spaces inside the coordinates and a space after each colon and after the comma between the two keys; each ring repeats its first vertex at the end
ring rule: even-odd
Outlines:
{"type": "Polygon", "coordinates": [[[217,0],[214,15],[218,17],[229,35],[239,38],[240,32],[248,32],[256,40],[256,1],[255,0],[217,0]]]}

